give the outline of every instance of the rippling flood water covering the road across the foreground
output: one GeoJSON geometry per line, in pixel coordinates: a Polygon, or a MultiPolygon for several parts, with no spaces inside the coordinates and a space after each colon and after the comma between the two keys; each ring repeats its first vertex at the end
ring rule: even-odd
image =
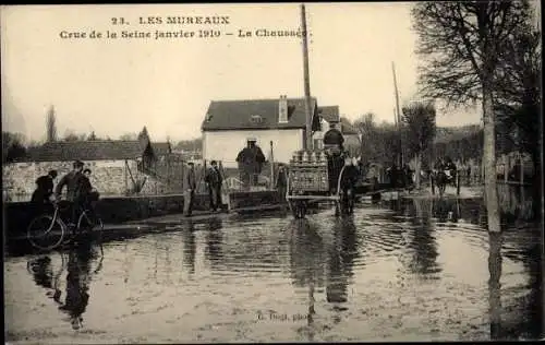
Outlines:
{"type": "Polygon", "coordinates": [[[482,200],[415,199],[7,258],[7,341],[537,338],[541,226],[525,212],[506,207],[489,236],[482,200]]]}

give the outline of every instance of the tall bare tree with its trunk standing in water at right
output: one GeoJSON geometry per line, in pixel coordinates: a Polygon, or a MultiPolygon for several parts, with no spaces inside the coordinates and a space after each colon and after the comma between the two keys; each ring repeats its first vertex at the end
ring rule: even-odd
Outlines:
{"type": "Polygon", "coordinates": [[[412,10],[419,35],[422,92],[448,105],[481,100],[484,122],[488,230],[500,231],[496,190],[494,83],[506,39],[526,22],[529,1],[420,2],[412,10]]]}

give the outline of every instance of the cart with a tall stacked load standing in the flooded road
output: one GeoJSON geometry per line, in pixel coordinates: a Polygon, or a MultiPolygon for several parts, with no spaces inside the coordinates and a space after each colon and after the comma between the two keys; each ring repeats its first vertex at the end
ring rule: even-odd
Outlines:
{"type": "Polygon", "coordinates": [[[286,199],[296,218],[306,214],[310,203],[332,201],[336,213],[342,211],[340,180],[344,156],[335,150],[294,152],[289,165],[286,199]]]}

